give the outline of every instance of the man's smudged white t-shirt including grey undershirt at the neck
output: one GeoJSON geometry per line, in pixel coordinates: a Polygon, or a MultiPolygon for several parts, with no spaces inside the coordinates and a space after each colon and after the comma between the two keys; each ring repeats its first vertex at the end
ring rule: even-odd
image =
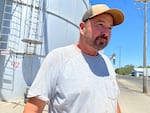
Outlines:
{"type": "Polygon", "coordinates": [[[28,97],[46,101],[49,113],[116,113],[119,88],[114,69],[108,57],[102,53],[96,57],[83,54],[75,45],[53,50],[28,97]]]}

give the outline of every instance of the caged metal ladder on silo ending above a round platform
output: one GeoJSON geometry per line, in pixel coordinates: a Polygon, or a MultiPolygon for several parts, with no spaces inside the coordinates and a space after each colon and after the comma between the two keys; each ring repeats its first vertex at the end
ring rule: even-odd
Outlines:
{"type": "Polygon", "coordinates": [[[26,44],[25,53],[40,55],[43,42],[43,0],[27,0],[27,4],[22,39],[26,44]]]}

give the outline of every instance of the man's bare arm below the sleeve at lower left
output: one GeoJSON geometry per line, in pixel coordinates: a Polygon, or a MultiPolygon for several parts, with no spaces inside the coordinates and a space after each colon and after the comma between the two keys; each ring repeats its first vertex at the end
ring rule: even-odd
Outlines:
{"type": "Polygon", "coordinates": [[[23,113],[42,113],[45,105],[45,101],[42,101],[36,97],[29,98],[24,107],[23,113]]]}

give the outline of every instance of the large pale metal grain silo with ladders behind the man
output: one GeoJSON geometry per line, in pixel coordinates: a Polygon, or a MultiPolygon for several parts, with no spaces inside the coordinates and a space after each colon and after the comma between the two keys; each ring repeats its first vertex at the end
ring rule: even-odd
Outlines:
{"type": "Polygon", "coordinates": [[[0,100],[21,98],[52,49],[79,38],[89,0],[1,0],[0,100]]]}

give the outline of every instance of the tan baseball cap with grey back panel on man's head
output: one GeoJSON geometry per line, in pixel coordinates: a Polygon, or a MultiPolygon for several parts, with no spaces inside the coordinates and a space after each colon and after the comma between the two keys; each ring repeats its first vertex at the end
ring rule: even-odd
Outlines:
{"type": "Polygon", "coordinates": [[[87,21],[99,14],[108,13],[113,17],[113,26],[119,25],[124,21],[124,14],[118,9],[111,9],[105,4],[97,4],[91,6],[83,15],[82,21],[87,21]]]}

